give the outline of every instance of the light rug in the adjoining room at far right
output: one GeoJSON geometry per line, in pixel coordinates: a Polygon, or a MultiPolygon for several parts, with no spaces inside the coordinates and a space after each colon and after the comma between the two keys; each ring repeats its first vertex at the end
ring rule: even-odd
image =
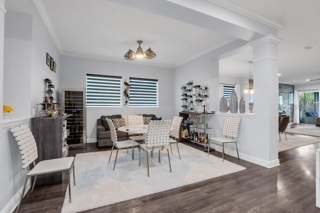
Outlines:
{"type": "Polygon", "coordinates": [[[286,138],[287,141],[285,140],[284,134],[281,135],[281,141],[279,141],[278,143],[279,152],[320,142],[320,138],[305,137],[299,135],[286,134],[286,138]]]}

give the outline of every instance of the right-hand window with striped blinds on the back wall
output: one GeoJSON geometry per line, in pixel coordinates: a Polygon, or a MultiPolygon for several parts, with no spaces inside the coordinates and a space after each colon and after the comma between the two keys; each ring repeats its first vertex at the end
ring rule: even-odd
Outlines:
{"type": "Polygon", "coordinates": [[[129,84],[130,107],[158,106],[158,80],[129,78],[129,84]]]}

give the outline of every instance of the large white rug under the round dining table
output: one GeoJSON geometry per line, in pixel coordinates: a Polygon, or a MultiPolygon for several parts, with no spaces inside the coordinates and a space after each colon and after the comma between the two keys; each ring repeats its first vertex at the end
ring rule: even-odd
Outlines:
{"type": "Polygon", "coordinates": [[[245,170],[244,167],[209,155],[187,145],[178,144],[170,153],[172,173],[169,171],[166,150],[161,152],[158,163],[157,152],[149,157],[150,177],[147,177],[145,152],[141,151],[141,166],[138,166],[138,151],[131,158],[131,150],[120,150],[115,170],[115,152],[108,164],[110,151],[77,154],[75,156],[75,182],[71,178],[72,202],[69,203],[66,190],[61,213],[75,213],[107,206],[157,192],[216,178],[222,175],[245,170]]]}

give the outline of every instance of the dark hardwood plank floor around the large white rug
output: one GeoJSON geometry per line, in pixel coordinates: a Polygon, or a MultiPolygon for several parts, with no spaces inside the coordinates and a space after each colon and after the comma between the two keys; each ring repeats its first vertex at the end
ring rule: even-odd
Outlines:
{"type": "MultiPolygon", "coordinates": [[[[280,166],[271,169],[225,155],[225,160],[247,169],[85,212],[320,213],[315,207],[317,148],[320,143],[280,152],[280,166]]],[[[109,149],[87,144],[85,149],[70,150],[69,156],[109,149]]],[[[210,154],[221,158],[217,151],[210,154]]],[[[65,179],[62,184],[36,187],[32,196],[28,192],[22,200],[20,212],[59,213],[66,185],[65,179]]]]}

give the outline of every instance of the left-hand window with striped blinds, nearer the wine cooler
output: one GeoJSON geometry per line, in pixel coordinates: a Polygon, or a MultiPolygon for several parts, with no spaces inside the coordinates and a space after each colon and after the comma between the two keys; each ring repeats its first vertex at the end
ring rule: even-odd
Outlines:
{"type": "Polygon", "coordinates": [[[86,74],[86,106],[121,106],[121,77],[86,74]]]}

